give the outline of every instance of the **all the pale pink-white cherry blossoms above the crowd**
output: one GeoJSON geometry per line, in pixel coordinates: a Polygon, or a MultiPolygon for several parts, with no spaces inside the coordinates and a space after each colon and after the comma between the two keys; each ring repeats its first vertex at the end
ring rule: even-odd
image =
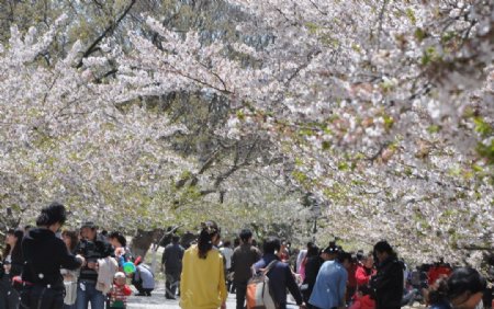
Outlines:
{"type": "MultiPolygon", "coordinates": [[[[137,203],[159,221],[173,205],[170,183],[197,179],[200,192],[227,192],[235,207],[258,195],[281,201],[283,188],[311,192],[322,205],[319,238],[368,245],[386,238],[416,261],[459,261],[493,245],[492,3],[228,2],[249,16],[236,25],[236,42],[206,42],[148,18],[155,39],[130,32],[131,52],[109,39],[103,56],[80,68],[77,44],[45,66],[37,57],[53,34],[13,31],[0,49],[0,164],[10,203],[25,207],[69,191],[75,211],[122,203],[132,221],[137,203]],[[100,78],[109,64],[114,75],[100,78]],[[138,103],[175,92],[225,98],[228,119],[214,134],[261,140],[257,163],[228,158],[232,173],[209,183],[220,172],[206,176],[203,161],[179,156],[164,138],[187,128],[138,103]],[[256,178],[272,186],[239,188],[256,178]]],[[[301,214],[314,214],[296,205],[299,193],[293,203],[262,205],[302,225],[301,214]]]]}

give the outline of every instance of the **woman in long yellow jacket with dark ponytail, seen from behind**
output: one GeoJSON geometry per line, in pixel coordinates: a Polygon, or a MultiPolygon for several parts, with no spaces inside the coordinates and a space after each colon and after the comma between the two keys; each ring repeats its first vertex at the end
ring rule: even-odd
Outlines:
{"type": "Polygon", "coordinates": [[[198,244],[183,254],[180,278],[182,309],[226,309],[226,284],[223,256],[214,248],[220,228],[214,221],[202,224],[198,244]]]}

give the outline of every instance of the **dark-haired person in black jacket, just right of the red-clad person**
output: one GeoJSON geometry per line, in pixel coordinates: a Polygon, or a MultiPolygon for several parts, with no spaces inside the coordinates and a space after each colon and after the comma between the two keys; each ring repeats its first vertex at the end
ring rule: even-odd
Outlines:
{"type": "Polygon", "coordinates": [[[374,245],[378,273],[371,278],[377,309],[400,309],[403,297],[403,264],[386,241],[374,245]]]}

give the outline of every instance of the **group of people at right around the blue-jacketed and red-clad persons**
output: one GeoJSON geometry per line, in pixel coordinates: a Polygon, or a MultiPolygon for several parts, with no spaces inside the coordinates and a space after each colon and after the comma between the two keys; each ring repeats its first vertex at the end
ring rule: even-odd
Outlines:
{"type": "MultiPolygon", "coordinates": [[[[303,277],[301,286],[308,308],[374,309],[401,308],[413,305],[420,294],[424,305],[434,309],[475,308],[487,293],[486,281],[476,270],[459,267],[447,270],[440,263],[430,270],[425,281],[413,287],[405,263],[386,241],[375,243],[367,254],[346,253],[334,242],[317,254],[311,242],[299,254],[297,270],[303,277]]],[[[491,308],[491,302],[485,304],[491,308]]]]}

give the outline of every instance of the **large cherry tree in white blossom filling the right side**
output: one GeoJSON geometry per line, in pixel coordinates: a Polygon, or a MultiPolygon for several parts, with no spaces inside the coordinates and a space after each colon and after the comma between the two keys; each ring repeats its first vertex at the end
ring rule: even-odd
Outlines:
{"type": "Polygon", "coordinates": [[[121,64],[146,78],[128,87],[229,98],[223,134],[268,136],[326,202],[326,232],[426,260],[492,244],[492,4],[232,2],[252,16],[239,37],[272,42],[203,44],[149,19],[161,42],[131,36],[121,64]]]}

